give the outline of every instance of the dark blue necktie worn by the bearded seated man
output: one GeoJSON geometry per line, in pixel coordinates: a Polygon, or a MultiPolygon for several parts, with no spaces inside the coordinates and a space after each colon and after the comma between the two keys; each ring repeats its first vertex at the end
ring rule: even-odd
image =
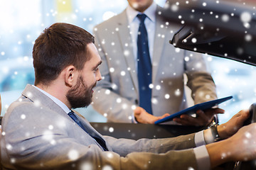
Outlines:
{"type": "MultiPolygon", "coordinates": [[[[77,123],[83,130],[85,130],[85,132],[87,132],[87,130],[85,129],[85,127],[82,125],[82,123],[78,120],[78,118],[75,116],[75,113],[73,111],[70,111],[70,113],[68,113],[68,115],[70,116],[70,118],[72,118],[75,123],[77,123]]],[[[99,135],[97,135],[96,133],[90,134],[89,132],[87,132],[87,134],[89,134],[92,138],[94,138],[96,140],[96,142],[105,150],[108,151],[107,146],[105,141],[102,139],[102,137],[100,137],[99,135]]]]}

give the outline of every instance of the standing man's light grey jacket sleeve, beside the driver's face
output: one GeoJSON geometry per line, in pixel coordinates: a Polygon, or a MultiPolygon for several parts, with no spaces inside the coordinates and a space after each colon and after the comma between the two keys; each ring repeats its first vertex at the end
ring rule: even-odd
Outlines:
{"type": "MultiPolygon", "coordinates": [[[[95,30],[95,29],[94,29],[95,30]]],[[[110,77],[110,68],[108,66],[107,55],[102,48],[102,38],[98,33],[99,30],[94,32],[95,46],[102,58],[102,64],[100,65],[100,73],[102,74],[102,80],[97,83],[95,87],[95,93],[92,96],[92,107],[98,113],[107,116],[108,120],[118,123],[132,123],[134,103],[129,101],[118,94],[118,86],[112,83],[110,77]]]]}

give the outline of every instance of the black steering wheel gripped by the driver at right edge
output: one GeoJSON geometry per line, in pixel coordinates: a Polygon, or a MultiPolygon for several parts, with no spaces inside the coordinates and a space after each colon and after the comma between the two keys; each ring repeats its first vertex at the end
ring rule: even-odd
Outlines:
{"type": "MultiPolygon", "coordinates": [[[[249,125],[250,123],[256,122],[256,103],[253,103],[250,108],[250,117],[245,120],[244,125],[249,125]]],[[[247,162],[235,162],[234,170],[247,170],[256,169],[256,159],[247,162]]]]}

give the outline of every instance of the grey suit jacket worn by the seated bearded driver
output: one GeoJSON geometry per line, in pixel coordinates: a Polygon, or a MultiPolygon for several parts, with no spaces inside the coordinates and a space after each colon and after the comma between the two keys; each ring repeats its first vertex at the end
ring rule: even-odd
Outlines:
{"type": "MultiPolygon", "coordinates": [[[[98,133],[85,118],[79,119],[87,130],[98,133]]],[[[193,149],[186,149],[195,147],[194,134],[137,141],[104,136],[110,150],[104,152],[62,108],[31,85],[9,107],[2,130],[4,169],[197,169],[193,149]]]]}

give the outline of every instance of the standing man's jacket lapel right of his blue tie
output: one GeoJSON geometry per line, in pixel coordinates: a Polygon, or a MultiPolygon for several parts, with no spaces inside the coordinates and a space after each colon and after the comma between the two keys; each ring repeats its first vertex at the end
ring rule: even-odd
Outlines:
{"type": "Polygon", "coordinates": [[[164,20],[159,16],[158,11],[161,10],[160,6],[157,6],[156,8],[156,30],[154,35],[154,50],[153,50],[153,56],[152,56],[152,84],[154,84],[154,81],[156,79],[156,73],[159,69],[159,60],[161,58],[163,48],[166,43],[169,43],[169,40],[167,40],[167,29],[166,29],[166,23],[164,23],[164,20]]]}

